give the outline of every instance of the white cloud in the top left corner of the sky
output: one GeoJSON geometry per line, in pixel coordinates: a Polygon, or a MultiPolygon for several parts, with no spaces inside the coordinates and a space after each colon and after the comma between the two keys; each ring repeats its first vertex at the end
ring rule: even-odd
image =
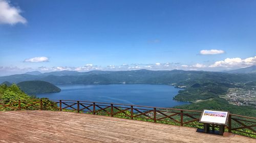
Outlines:
{"type": "Polygon", "coordinates": [[[0,0],[0,23],[16,24],[27,23],[27,20],[20,15],[21,10],[10,5],[9,1],[0,0]]]}

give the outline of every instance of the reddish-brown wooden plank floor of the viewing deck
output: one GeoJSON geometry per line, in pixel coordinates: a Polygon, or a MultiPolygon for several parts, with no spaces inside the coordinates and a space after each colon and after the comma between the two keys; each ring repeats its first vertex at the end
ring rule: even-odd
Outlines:
{"type": "Polygon", "coordinates": [[[60,111],[0,112],[0,142],[256,142],[196,128],[60,111]]]}

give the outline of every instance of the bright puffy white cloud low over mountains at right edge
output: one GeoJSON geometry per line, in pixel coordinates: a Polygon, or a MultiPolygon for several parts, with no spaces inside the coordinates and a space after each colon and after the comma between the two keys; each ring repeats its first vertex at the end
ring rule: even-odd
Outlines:
{"type": "Polygon", "coordinates": [[[256,65],[256,56],[241,59],[241,58],[227,58],[224,61],[217,61],[214,64],[210,65],[210,68],[216,67],[244,67],[244,66],[252,66],[256,65]]]}

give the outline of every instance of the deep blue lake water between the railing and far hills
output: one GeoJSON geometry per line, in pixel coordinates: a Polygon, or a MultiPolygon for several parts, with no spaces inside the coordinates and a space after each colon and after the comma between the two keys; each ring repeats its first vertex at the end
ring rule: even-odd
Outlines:
{"type": "Polygon", "coordinates": [[[62,100],[80,100],[135,104],[156,107],[173,107],[189,104],[178,102],[173,97],[179,90],[161,84],[109,84],[109,85],[58,85],[59,93],[38,94],[37,97],[62,100]]]}

